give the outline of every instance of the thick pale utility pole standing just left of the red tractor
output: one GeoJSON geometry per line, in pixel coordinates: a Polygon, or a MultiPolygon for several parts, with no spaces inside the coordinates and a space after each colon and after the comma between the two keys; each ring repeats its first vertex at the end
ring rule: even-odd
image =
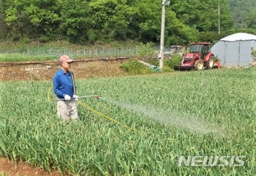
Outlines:
{"type": "Polygon", "coordinates": [[[162,18],[161,18],[161,39],[160,39],[160,53],[161,58],[159,61],[159,68],[164,67],[164,50],[165,50],[165,6],[169,5],[170,2],[162,0],[162,18]]]}

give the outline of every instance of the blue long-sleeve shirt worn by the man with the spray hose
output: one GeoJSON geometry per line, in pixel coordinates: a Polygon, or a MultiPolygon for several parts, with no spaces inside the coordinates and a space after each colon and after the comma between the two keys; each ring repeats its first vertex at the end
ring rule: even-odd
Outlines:
{"type": "Polygon", "coordinates": [[[53,91],[57,98],[63,99],[65,95],[73,97],[74,86],[72,82],[71,72],[65,73],[63,69],[60,69],[54,74],[53,77],[53,91]]]}

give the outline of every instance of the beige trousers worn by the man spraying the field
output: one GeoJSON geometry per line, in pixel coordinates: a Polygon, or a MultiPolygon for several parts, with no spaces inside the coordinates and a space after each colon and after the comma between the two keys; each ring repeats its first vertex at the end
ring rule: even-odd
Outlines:
{"type": "Polygon", "coordinates": [[[57,116],[63,120],[78,120],[77,105],[75,99],[70,101],[58,100],[57,101],[57,116]]]}

